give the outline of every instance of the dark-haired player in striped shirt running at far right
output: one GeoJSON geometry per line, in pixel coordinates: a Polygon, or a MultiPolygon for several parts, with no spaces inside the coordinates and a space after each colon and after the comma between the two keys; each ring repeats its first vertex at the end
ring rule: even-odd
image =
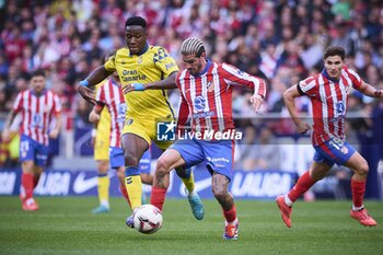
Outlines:
{"type": "Polygon", "coordinates": [[[351,177],[352,208],[351,218],[362,225],[376,225],[376,221],[368,213],[363,206],[365,179],[369,165],[363,157],[345,140],[345,117],[347,113],[347,98],[351,86],[364,95],[382,98],[382,90],[360,79],[358,73],[345,65],[345,49],[332,46],[324,54],[324,70],[309,77],[283,93],[287,108],[294,121],[298,132],[304,134],[311,126],[299,118],[295,111],[294,98],[306,95],[313,106],[312,142],[315,149],[313,163],[294,187],[285,196],[278,196],[276,201],[281,218],[288,228],[291,228],[291,211],[293,202],[322,179],[336,163],[349,167],[351,177]]]}

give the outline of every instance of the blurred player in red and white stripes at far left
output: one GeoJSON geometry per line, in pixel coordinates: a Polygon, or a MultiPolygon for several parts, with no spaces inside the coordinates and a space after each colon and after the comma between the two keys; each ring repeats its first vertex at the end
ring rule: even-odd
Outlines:
{"type": "Polygon", "coordinates": [[[20,125],[20,161],[22,162],[22,200],[23,210],[37,210],[33,190],[47,163],[49,138],[56,139],[61,126],[61,104],[59,97],[45,88],[44,71],[35,71],[31,79],[31,89],[20,92],[13,109],[7,118],[3,139],[9,139],[9,127],[18,113],[22,114],[20,125]],[[53,117],[55,127],[50,128],[53,117]]]}

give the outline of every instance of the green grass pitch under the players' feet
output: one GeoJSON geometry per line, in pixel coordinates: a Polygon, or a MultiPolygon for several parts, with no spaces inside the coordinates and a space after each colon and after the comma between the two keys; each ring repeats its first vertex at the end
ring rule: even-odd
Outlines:
{"type": "Polygon", "coordinates": [[[383,254],[383,202],[365,201],[378,227],[349,217],[350,201],[298,201],[292,228],[274,201],[237,200],[237,241],[224,241],[216,200],[204,200],[205,219],[194,219],[185,200],[167,199],[162,229],[144,235],[125,227],[123,198],[112,211],[92,215],[95,197],[37,197],[39,211],[23,211],[18,197],[0,197],[0,254],[383,254]]]}

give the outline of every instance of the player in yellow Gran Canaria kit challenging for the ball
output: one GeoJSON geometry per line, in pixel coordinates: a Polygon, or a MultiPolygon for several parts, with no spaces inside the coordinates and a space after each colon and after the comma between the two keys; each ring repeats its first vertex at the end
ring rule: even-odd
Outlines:
{"type": "MultiPolygon", "coordinates": [[[[106,77],[117,71],[125,92],[127,113],[121,135],[121,147],[125,158],[126,188],[131,208],[141,206],[142,183],[138,163],[151,141],[163,150],[171,146],[170,141],[156,139],[156,123],[175,119],[174,111],[167,101],[164,90],[175,88],[175,77],[178,67],[175,60],[161,46],[151,46],[147,42],[147,22],[140,16],[127,19],[125,23],[125,39],[127,47],[120,48],[109,60],[96,68],[85,80],[80,82],[79,92],[89,102],[96,104],[94,86],[106,77]],[[130,92],[131,86],[137,91],[130,92]]],[[[204,218],[204,207],[198,194],[194,190],[193,172],[176,170],[188,192],[188,200],[197,219],[204,218]]],[[[146,179],[142,179],[146,183],[146,179]]],[[[152,179],[151,179],[152,182],[152,179]]],[[[128,217],[127,225],[132,228],[132,217],[128,217]]]]}

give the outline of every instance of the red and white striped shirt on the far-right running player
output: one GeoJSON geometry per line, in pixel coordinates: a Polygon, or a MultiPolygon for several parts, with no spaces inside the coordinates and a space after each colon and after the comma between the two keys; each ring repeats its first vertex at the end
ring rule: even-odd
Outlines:
{"type": "Polygon", "coordinates": [[[345,67],[339,81],[330,80],[322,71],[299,82],[299,90],[309,95],[313,106],[314,146],[320,146],[332,137],[345,140],[345,117],[350,86],[358,89],[362,80],[355,71],[345,67]]]}

